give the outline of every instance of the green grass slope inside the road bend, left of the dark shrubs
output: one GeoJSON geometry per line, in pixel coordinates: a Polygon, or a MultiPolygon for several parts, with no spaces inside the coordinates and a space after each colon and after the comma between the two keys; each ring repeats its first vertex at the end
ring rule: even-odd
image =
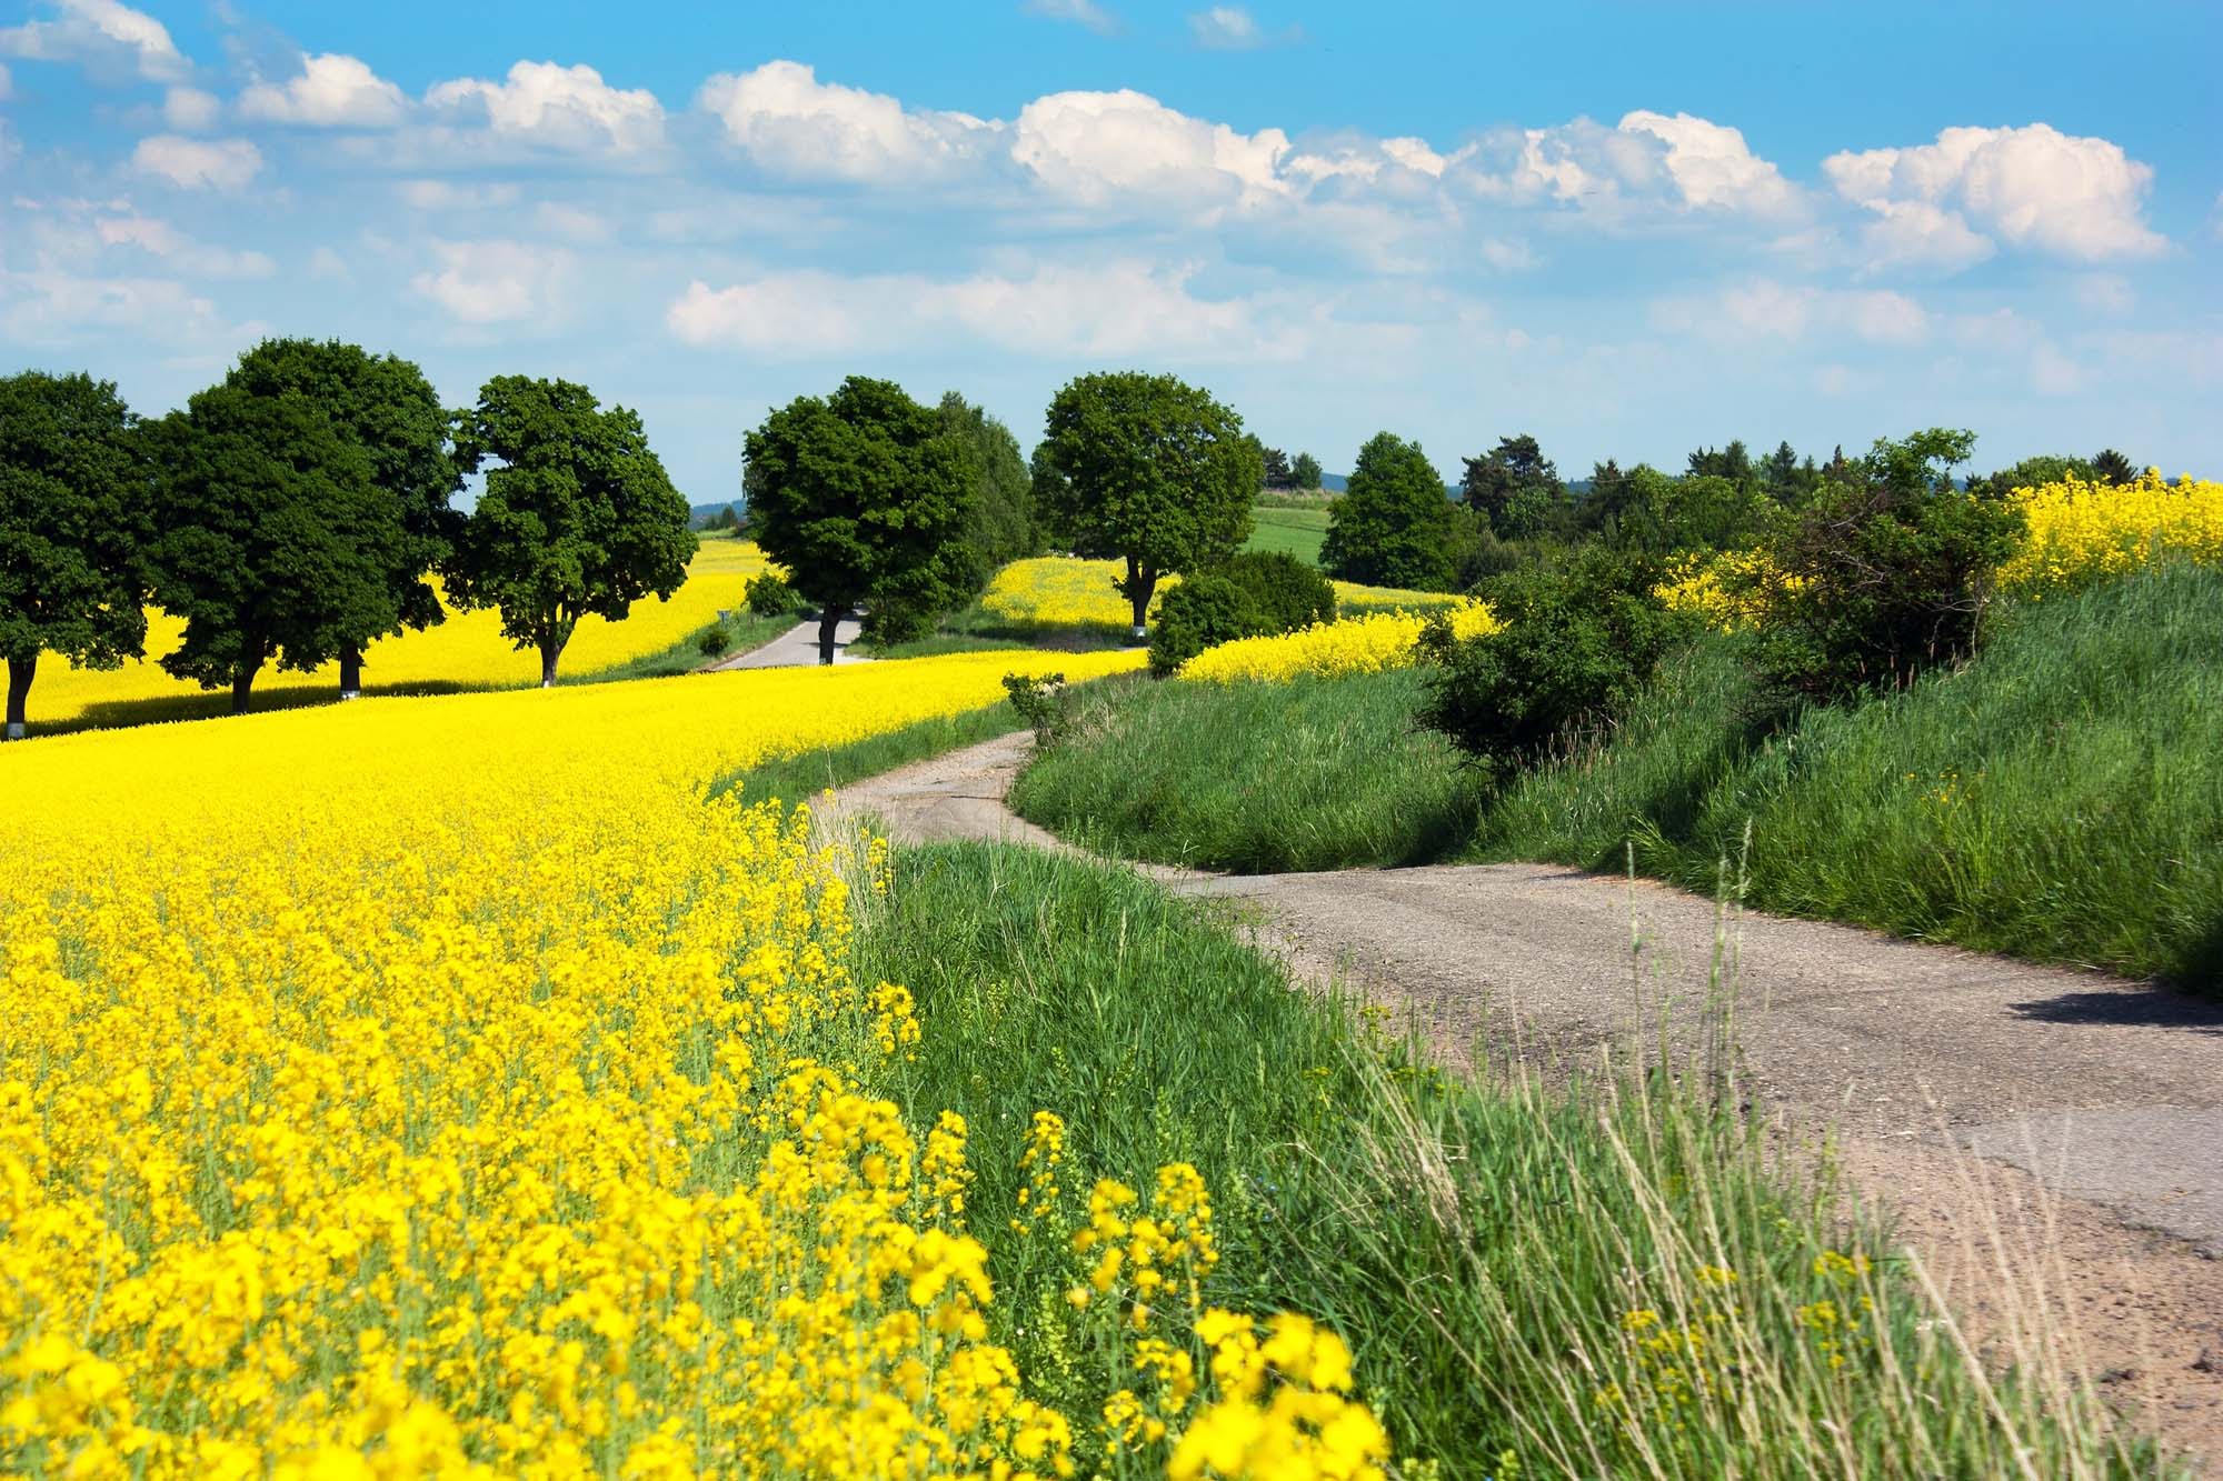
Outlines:
{"type": "Polygon", "coordinates": [[[1416,703],[1412,672],[1100,687],[1011,805],[1105,854],[1207,869],[1434,861],[1474,834],[1476,789],[1414,734],[1416,703]]]}

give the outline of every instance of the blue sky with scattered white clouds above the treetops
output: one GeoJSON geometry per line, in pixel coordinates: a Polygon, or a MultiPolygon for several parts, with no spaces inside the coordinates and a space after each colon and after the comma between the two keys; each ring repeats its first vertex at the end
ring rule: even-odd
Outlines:
{"type": "Polygon", "coordinates": [[[851,371],[1031,445],[1129,365],[1329,469],[1965,425],[2216,476],[2219,13],[0,0],[0,371],[569,376],[696,503],[851,371]]]}

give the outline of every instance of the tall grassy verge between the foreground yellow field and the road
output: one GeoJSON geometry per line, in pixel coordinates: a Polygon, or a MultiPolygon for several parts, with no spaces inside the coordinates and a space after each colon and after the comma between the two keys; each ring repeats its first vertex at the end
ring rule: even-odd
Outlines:
{"type": "Polygon", "coordinates": [[[1187,1161],[1200,1299],[1338,1330],[1405,1477],[2152,1470],[2043,1350],[1994,1383],[1874,1230],[1689,1087],[1416,1070],[1194,905],[1029,849],[900,849],[856,970],[916,994],[898,1096],[965,1119],[994,1334],[1076,1421],[1134,1383],[1067,1301],[1078,1201],[1187,1161]],[[1065,1190],[1020,1203],[1045,1110],[1065,1190]]]}

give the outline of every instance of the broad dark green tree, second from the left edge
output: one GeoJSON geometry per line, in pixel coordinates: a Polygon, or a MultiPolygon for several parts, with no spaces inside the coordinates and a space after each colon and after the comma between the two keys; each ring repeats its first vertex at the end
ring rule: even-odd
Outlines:
{"type": "Polygon", "coordinates": [[[391,612],[387,551],[409,531],[318,398],[227,380],[144,431],[153,600],[185,618],[167,672],[245,714],[267,665],[307,674],[391,612]]]}

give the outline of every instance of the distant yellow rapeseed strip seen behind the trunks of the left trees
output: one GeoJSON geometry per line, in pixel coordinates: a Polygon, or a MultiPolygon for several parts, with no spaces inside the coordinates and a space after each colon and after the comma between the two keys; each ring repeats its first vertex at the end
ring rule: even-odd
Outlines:
{"type": "MultiPolygon", "coordinates": [[[[705,536],[702,549],[687,565],[687,585],[671,600],[634,603],[622,623],[598,616],[580,618],[562,652],[565,674],[594,674],[647,654],[660,654],[687,634],[709,627],[718,612],[747,607],[745,587],[765,569],[765,554],[749,540],[705,536]]],[[[31,689],[31,718],[69,723],[87,718],[96,705],[129,705],[136,700],[173,700],[202,694],[200,685],[171,678],[158,663],[178,647],[185,625],[165,612],[147,614],[147,658],[131,658],[120,669],[76,669],[62,658],[47,658],[31,689]]],[[[362,656],[362,683],[369,692],[422,685],[456,685],[487,689],[500,685],[540,683],[540,656],[518,652],[502,636],[498,612],[451,612],[445,623],[425,632],[380,638],[362,656]]],[[[316,674],[265,669],[256,683],[269,700],[273,692],[313,685],[320,692],[338,687],[338,665],[316,674]]]]}

